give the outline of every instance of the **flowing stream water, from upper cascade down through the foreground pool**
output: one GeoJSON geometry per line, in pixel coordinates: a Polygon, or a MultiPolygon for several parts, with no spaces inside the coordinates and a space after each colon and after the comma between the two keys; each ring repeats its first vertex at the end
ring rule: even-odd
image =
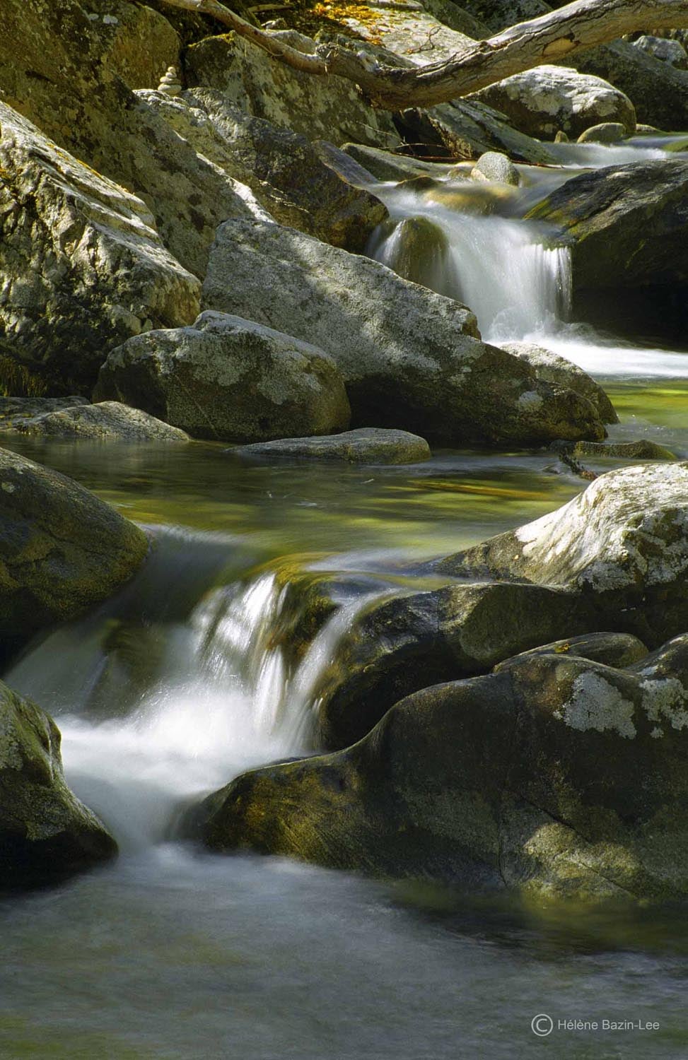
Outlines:
{"type": "MultiPolygon", "coordinates": [[[[645,160],[661,144],[585,157],[565,146],[563,164],[574,166],[604,164],[617,149],[631,158],[613,161],[645,160]]],[[[532,179],[553,186],[569,175],[532,179]]],[[[545,249],[517,210],[486,217],[391,186],[381,194],[398,217],[427,214],[443,226],[457,294],[486,337],[536,338],[580,364],[619,411],[611,440],[650,438],[688,459],[685,351],[566,322],[566,257],[545,249]]],[[[384,241],[373,252],[385,258],[384,241]]],[[[3,675],[56,718],[67,779],[121,855],[0,901],[0,1057],[688,1055],[685,907],[479,899],[210,855],[174,838],[190,800],[313,749],[318,674],[371,596],[423,587],[413,570],[422,561],[580,492],[553,453],[439,450],[413,466],[340,467],[243,464],[201,443],[2,444],[153,528],[157,548],[116,599],[37,640],[3,675]],[[339,577],[342,608],[289,674],[272,634],[281,586],[304,569],[339,577]],[[545,1039],[531,1030],[540,1013],[554,1023],[545,1039]],[[600,1029],[560,1029],[560,1020],[600,1029]],[[659,1028],[602,1030],[603,1020],[659,1028]]]]}

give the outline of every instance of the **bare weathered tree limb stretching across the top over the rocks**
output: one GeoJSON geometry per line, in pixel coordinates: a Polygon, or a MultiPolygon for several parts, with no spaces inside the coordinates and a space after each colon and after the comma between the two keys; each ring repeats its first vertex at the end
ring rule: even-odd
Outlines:
{"type": "Polygon", "coordinates": [[[688,0],[576,0],[529,22],[519,22],[488,40],[478,40],[441,63],[422,67],[389,67],[352,48],[323,45],[308,55],[246,22],[217,0],[163,0],[212,15],[274,58],[296,70],[355,82],[378,107],[403,110],[447,103],[457,96],[562,59],[583,48],[614,40],[625,33],[688,26],[688,0]]]}

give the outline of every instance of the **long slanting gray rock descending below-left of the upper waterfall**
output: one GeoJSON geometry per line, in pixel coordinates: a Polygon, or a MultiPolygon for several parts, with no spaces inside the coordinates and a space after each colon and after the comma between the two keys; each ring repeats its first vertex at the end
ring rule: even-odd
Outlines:
{"type": "Polygon", "coordinates": [[[354,426],[446,441],[603,437],[585,399],[480,342],[465,306],[294,229],[223,225],[204,303],[329,353],[347,383],[354,426]]]}

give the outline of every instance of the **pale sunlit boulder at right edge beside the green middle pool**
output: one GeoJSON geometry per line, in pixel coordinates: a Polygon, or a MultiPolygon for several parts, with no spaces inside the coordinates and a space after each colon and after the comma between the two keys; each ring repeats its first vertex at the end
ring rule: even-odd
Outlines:
{"type": "Polygon", "coordinates": [[[688,463],[638,464],[437,569],[576,594],[597,616],[589,629],[613,623],[653,648],[688,628],[687,526],[688,463]]]}

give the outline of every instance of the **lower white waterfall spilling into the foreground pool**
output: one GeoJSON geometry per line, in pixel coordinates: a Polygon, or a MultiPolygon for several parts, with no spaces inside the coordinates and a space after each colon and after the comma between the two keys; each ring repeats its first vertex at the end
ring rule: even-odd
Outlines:
{"type": "MultiPolygon", "coordinates": [[[[147,624],[129,620],[152,594],[169,596],[179,564],[174,549],[164,560],[171,538],[161,535],[155,576],[144,568],[123,598],[55,631],[4,678],[55,717],[70,787],[130,851],[163,841],[192,798],[310,749],[320,675],[370,599],[335,611],[289,672],[275,570],[209,593],[201,581],[189,613],[171,621],[164,610],[147,624]]],[[[187,535],[186,554],[207,544],[187,535]]]]}

